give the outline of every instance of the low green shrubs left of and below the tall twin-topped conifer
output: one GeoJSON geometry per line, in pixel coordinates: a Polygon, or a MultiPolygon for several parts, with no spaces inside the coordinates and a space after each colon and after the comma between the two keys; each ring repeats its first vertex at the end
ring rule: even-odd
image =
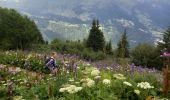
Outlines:
{"type": "Polygon", "coordinates": [[[82,59],[86,60],[102,60],[106,58],[106,55],[101,52],[94,52],[93,50],[87,48],[84,42],[81,41],[61,41],[59,39],[54,39],[51,42],[51,49],[56,50],[62,54],[76,54],[82,59]]]}

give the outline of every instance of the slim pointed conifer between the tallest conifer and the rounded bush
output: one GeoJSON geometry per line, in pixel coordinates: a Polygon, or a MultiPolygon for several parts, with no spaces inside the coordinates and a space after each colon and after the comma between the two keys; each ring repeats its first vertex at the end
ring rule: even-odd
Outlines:
{"type": "Polygon", "coordinates": [[[129,43],[127,40],[127,35],[126,35],[126,29],[124,30],[124,33],[118,42],[117,46],[117,56],[120,58],[128,58],[129,57],[129,43]]]}

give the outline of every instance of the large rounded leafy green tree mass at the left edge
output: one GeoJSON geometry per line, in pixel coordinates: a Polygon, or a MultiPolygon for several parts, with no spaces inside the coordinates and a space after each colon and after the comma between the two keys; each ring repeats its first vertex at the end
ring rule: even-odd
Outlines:
{"type": "Polygon", "coordinates": [[[29,49],[44,43],[34,21],[16,10],[0,8],[0,49],[29,49]]]}

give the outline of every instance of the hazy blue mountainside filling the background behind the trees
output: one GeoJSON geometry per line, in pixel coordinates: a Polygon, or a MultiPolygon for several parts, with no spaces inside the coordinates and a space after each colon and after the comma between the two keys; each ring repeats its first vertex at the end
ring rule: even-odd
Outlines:
{"type": "Polygon", "coordinates": [[[170,25],[168,0],[0,0],[36,22],[43,37],[51,41],[83,40],[93,18],[98,18],[107,40],[116,46],[127,28],[130,45],[156,43],[170,25]]]}

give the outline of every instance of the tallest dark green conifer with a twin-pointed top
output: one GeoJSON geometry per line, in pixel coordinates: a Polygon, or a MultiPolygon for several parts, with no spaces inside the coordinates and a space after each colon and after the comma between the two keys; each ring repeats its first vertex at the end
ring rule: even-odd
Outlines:
{"type": "Polygon", "coordinates": [[[103,32],[99,28],[99,21],[94,19],[86,42],[87,47],[92,48],[96,52],[103,51],[105,47],[105,38],[103,32]]]}

